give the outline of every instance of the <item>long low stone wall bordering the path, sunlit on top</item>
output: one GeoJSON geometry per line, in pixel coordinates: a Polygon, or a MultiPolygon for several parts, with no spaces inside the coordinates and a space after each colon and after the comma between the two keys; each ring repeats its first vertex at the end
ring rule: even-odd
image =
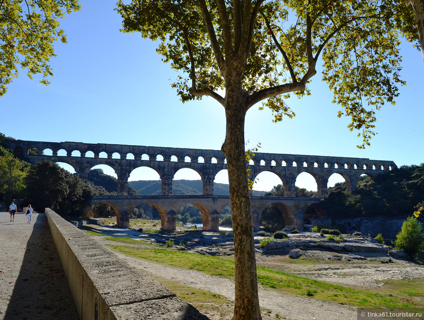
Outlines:
{"type": "Polygon", "coordinates": [[[53,210],[45,213],[80,320],[207,320],[53,210]]]}

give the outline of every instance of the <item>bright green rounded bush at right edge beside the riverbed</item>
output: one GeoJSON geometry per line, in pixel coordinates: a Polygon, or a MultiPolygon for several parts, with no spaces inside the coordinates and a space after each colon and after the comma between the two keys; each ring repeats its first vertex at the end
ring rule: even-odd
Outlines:
{"type": "Polygon", "coordinates": [[[411,258],[417,258],[424,251],[422,225],[415,217],[408,217],[401,231],[396,235],[395,249],[403,250],[411,258]]]}

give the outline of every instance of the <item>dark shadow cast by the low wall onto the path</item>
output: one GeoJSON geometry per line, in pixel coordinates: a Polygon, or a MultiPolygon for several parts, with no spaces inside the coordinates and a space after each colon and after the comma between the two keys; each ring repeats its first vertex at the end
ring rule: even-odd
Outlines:
{"type": "Polygon", "coordinates": [[[4,320],[77,320],[46,215],[36,216],[4,320]]]}

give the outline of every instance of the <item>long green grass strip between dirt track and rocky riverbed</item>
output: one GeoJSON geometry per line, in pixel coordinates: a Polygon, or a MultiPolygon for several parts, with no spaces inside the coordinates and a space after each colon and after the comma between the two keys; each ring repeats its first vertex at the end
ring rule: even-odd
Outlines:
{"type": "MultiPolygon", "coordinates": [[[[173,249],[140,249],[121,245],[110,245],[112,249],[136,258],[146,259],[156,263],[172,265],[184,269],[192,269],[209,275],[234,279],[234,262],[228,259],[198,255],[176,251],[173,249]]],[[[335,301],[356,307],[388,307],[409,308],[423,306],[417,297],[395,295],[390,290],[355,289],[342,285],[331,284],[295,276],[286,272],[257,267],[258,282],[263,286],[293,295],[314,294],[314,299],[335,301]],[[392,297],[389,296],[392,293],[392,297]]],[[[417,286],[418,288],[420,286],[417,286]]]]}

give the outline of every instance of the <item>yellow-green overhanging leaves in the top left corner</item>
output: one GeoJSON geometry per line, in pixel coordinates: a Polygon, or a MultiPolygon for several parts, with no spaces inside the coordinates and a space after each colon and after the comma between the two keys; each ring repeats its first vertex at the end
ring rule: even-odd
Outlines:
{"type": "Polygon", "coordinates": [[[31,79],[41,74],[40,83],[49,84],[49,62],[56,56],[53,43],[58,38],[66,43],[59,19],[77,10],[77,0],[0,1],[0,96],[20,68],[31,79]]]}

